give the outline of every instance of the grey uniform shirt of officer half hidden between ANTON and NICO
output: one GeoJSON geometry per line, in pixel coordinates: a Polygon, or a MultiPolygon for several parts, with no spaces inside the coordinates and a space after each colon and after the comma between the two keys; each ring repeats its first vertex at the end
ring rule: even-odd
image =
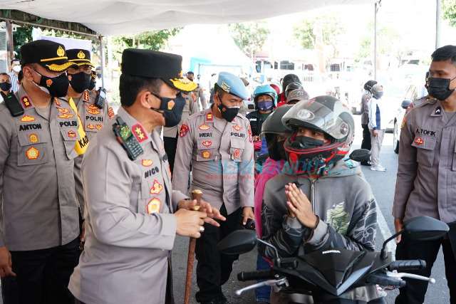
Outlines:
{"type": "MultiPolygon", "coordinates": [[[[107,102],[103,105],[103,109],[95,105],[96,91],[85,90],[81,98],[73,98],[73,102],[78,108],[79,117],[84,127],[84,131],[91,145],[95,144],[95,135],[98,134],[105,124],[109,124],[109,120],[113,119],[114,111],[107,102]]],[[[77,194],[83,194],[83,184],[81,177],[81,162],[83,155],[75,159],[75,180],[77,194]]],[[[84,214],[84,196],[78,195],[79,205],[81,206],[81,214],[84,214]]]]}

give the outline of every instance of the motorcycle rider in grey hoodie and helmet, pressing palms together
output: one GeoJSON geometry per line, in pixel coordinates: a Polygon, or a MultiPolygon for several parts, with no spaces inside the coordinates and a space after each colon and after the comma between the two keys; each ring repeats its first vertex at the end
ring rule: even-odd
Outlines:
{"type": "MultiPolygon", "coordinates": [[[[345,159],[355,132],[351,112],[323,95],[296,103],[281,122],[291,130],[284,142],[287,162],[264,187],[262,239],[282,258],[332,248],[373,251],[375,198],[359,164],[345,159]]],[[[259,253],[275,256],[263,245],[259,253]]],[[[375,286],[356,288],[343,297],[383,303],[375,286]]],[[[271,303],[289,303],[288,295],[272,293],[271,303]]]]}

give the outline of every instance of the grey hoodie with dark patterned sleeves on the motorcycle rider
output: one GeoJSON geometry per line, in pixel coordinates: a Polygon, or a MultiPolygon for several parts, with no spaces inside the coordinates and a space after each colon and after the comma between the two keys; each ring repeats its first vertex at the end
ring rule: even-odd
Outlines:
{"type": "MultiPolygon", "coordinates": [[[[329,248],[375,249],[375,198],[358,164],[350,160],[337,162],[326,176],[318,179],[284,173],[277,175],[266,184],[261,214],[262,239],[276,246],[281,257],[329,248]],[[288,183],[295,183],[306,194],[314,213],[320,217],[313,236],[311,229],[288,216],[285,195],[288,183]]],[[[259,251],[263,256],[274,258],[269,247],[259,246],[259,251]]],[[[356,296],[359,292],[352,294],[356,300],[378,298],[375,286],[361,289],[364,290],[362,298],[356,296]]]]}

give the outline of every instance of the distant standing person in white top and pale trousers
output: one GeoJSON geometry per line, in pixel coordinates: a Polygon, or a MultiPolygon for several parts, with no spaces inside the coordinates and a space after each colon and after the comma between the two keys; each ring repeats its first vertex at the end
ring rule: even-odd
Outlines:
{"type": "Polygon", "coordinates": [[[386,168],[380,164],[380,150],[388,117],[388,104],[382,98],[383,85],[373,85],[372,97],[369,102],[368,122],[369,131],[371,132],[371,170],[385,172],[386,168]]]}

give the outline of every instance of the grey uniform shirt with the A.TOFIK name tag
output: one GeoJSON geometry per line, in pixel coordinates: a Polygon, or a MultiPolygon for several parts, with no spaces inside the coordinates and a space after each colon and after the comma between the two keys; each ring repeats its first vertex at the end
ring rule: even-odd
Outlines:
{"type": "Polygon", "coordinates": [[[393,216],[456,221],[456,117],[428,99],[405,116],[400,131],[393,216]],[[451,117],[451,119],[449,119],[451,117]]]}

